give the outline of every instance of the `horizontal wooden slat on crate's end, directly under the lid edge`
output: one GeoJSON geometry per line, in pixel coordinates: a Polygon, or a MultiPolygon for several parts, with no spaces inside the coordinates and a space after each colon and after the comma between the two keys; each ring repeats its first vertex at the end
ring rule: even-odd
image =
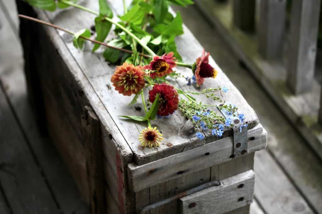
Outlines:
{"type": "MultiPolygon", "coordinates": [[[[262,133],[261,130],[259,126],[249,130],[249,137],[255,139],[249,141],[248,153],[266,147],[267,134],[265,131],[262,133]]],[[[195,172],[200,168],[229,161],[232,155],[232,145],[232,137],[227,137],[145,165],[130,163],[128,165],[129,186],[134,192],[138,192],[152,184],[165,182],[195,172]]]]}

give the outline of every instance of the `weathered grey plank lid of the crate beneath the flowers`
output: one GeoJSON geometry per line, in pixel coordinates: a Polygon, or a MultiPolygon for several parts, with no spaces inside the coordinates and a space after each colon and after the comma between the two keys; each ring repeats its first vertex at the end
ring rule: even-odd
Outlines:
{"type": "MultiPolygon", "coordinates": [[[[123,13],[122,1],[109,0],[109,3],[114,10],[114,19],[118,19],[117,15],[123,13]]],[[[99,10],[96,0],[88,0],[83,2],[82,5],[96,11],[99,10]]],[[[64,11],[57,10],[54,13],[37,10],[37,13],[42,20],[50,21],[75,32],[83,28],[90,28],[94,24],[95,18],[94,15],[76,8],[70,8],[64,11]]],[[[184,62],[193,63],[201,55],[204,48],[186,26],[183,26],[183,29],[185,33],[176,38],[177,50],[181,54],[184,62]]],[[[142,116],[144,114],[143,108],[142,111],[135,110],[136,106],[142,107],[141,100],[138,99],[137,104],[134,106],[127,106],[133,96],[123,96],[114,90],[110,78],[116,66],[105,62],[101,56],[104,49],[100,48],[97,52],[92,53],[91,48],[93,44],[86,43],[85,49],[80,51],[73,46],[70,35],[62,31],[49,29],[48,27],[46,27],[46,31],[49,33],[50,38],[61,56],[63,56],[63,60],[74,78],[79,82],[81,88],[83,88],[85,96],[89,99],[92,108],[103,125],[103,129],[106,130],[105,133],[108,133],[108,137],[114,139],[112,142],[117,144],[118,148],[122,151],[122,155],[128,156],[129,158],[133,156],[137,165],[146,164],[218,140],[218,138],[213,137],[211,134],[208,134],[204,140],[199,140],[195,134],[183,132],[182,127],[187,120],[177,110],[167,119],[161,118],[151,121],[152,126],[157,126],[162,132],[164,140],[157,148],[144,148],[142,150],[139,146],[138,135],[147,124],[119,117],[119,115],[142,116]]],[[[112,39],[113,36],[114,34],[111,31],[108,39],[112,39]]],[[[209,57],[209,63],[218,71],[218,75],[215,79],[206,79],[204,85],[199,90],[208,87],[225,86],[229,91],[227,93],[218,92],[218,96],[225,100],[226,103],[234,104],[238,107],[238,112],[244,114],[248,121],[249,130],[255,127],[259,123],[259,120],[254,110],[248,105],[241,93],[227,78],[211,56],[209,57]]],[[[185,76],[192,76],[190,69],[182,67],[176,67],[175,69],[185,76]]],[[[193,85],[187,85],[183,78],[177,81],[169,79],[169,82],[182,90],[197,90],[193,85]]],[[[199,96],[197,99],[206,98],[199,96]]],[[[205,102],[208,102],[208,104],[212,103],[210,99],[205,102]]],[[[220,113],[219,110],[218,112],[220,113]]],[[[226,132],[223,138],[231,135],[232,132],[226,132]]]]}

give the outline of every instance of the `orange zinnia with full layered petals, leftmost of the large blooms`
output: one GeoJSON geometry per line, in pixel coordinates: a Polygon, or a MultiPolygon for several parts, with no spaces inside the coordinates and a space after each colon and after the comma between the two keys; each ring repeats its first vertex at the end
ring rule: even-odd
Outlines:
{"type": "Polygon", "coordinates": [[[133,64],[123,63],[117,66],[115,73],[111,77],[111,82],[118,93],[124,96],[137,94],[145,85],[145,72],[142,66],[134,66],[133,64]]]}

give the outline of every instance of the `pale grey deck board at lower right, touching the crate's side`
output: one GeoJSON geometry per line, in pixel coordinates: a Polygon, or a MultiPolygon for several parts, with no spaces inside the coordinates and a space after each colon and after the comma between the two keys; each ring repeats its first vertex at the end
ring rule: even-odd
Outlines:
{"type": "Polygon", "coordinates": [[[314,213],[266,150],[255,154],[254,169],[255,196],[267,213],[314,213]]]}

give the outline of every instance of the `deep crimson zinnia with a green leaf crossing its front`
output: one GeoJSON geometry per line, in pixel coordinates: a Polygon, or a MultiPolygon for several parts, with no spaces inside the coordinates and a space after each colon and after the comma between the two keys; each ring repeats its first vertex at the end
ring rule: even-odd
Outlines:
{"type": "Polygon", "coordinates": [[[173,114],[178,108],[179,98],[178,92],[172,85],[166,83],[156,84],[152,90],[149,91],[149,101],[151,103],[156,99],[156,95],[159,95],[159,107],[157,115],[168,116],[173,114]]]}

